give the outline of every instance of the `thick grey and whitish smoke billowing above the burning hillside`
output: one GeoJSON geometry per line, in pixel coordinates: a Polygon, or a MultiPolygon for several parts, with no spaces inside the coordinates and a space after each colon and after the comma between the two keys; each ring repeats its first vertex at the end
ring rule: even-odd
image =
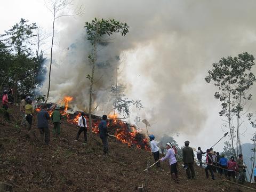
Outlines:
{"type": "MultiPolygon", "coordinates": [[[[80,1],[85,13],[76,19],[62,18],[60,42],[63,51],[61,65],[52,68],[50,101],[63,95],[74,97],[73,107],[89,107],[91,66],[87,55],[91,51],[86,40],[86,21],[94,17],[127,22],[130,32],[115,35],[107,46],[99,47],[95,71],[95,114],[109,113],[109,92],[115,85],[126,85],[130,99],[142,100],[144,109],[132,108],[152,125],[150,133],[157,135],[186,133],[212,129],[219,124],[219,103],[214,99],[214,86],[204,77],[213,62],[239,53],[255,54],[255,1],[80,1]],[[103,48],[103,49],[101,49],[103,48]],[[123,62],[116,60],[121,56],[123,62]]],[[[58,50],[55,57],[58,58],[58,50]]],[[[254,67],[255,72],[255,67],[254,67]]],[[[46,93],[47,79],[42,92],[46,93]]],[[[255,86],[251,90],[255,99],[255,86]]],[[[255,102],[254,102],[255,103],[255,102]]],[[[255,110],[255,104],[251,110],[255,110]]],[[[140,124],[143,127],[143,124],[140,124]]],[[[219,129],[219,128],[218,128],[219,129]]]]}

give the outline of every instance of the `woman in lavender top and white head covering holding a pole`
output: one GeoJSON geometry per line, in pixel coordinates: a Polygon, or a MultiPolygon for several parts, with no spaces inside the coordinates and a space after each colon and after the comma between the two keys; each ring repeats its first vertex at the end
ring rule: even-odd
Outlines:
{"type": "Polygon", "coordinates": [[[159,159],[160,162],[165,161],[165,159],[169,159],[170,169],[171,169],[171,175],[172,179],[179,183],[178,181],[178,169],[177,169],[177,159],[175,157],[174,150],[172,148],[172,144],[170,142],[166,143],[166,149],[167,153],[164,157],[159,159]]]}

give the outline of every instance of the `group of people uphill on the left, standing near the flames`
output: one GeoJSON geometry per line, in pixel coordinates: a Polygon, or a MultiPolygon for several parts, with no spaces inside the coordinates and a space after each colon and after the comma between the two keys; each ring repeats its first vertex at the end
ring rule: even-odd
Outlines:
{"type": "MultiPolygon", "coordinates": [[[[9,114],[9,91],[5,90],[2,98],[2,105],[4,111],[4,117],[7,121],[10,121],[10,114],[9,114]]],[[[47,111],[47,106],[43,105],[41,110],[37,114],[37,128],[40,133],[40,138],[45,145],[49,145],[50,142],[50,130],[49,130],[49,120],[53,123],[53,135],[54,137],[60,136],[60,125],[61,125],[61,118],[62,115],[60,113],[60,107],[54,106],[53,113],[49,114],[47,111]]],[[[21,95],[20,101],[20,117],[21,117],[21,125],[27,127],[28,131],[30,132],[31,127],[33,125],[33,117],[35,115],[34,106],[32,105],[32,100],[28,95],[21,95]]],[[[87,123],[85,118],[85,113],[81,112],[81,115],[78,118],[77,127],[79,128],[75,141],[78,141],[79,135],[83,132],[84,133],[84,143],[87,142],[87,123]]],[[[36,137],[35,132],[33,130],[34,137],[36,137]]],[[[103,152],[104,154],[108,153],[108,133],[107,133],[107,115],[102,116],[102,120],[99,123],[99,136],[103,143],[103,152]]]]}

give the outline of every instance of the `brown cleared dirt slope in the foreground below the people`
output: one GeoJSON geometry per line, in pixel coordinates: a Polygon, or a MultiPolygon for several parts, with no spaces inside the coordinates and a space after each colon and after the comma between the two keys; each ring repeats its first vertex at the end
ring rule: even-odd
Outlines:
{"type": "MultiPolygon", "coordinates": [[[[35,138],[19,125],[18,108],[11,108],[12,122],[0,119],[0,182],[12,185],[13,191],[138,191],[142,185],[147,185],[147,191],[253,191],[223,181],[218,175],[215,180],[206,179],[197,165],[197,179],[188,180],[181,162],[179,184],[171,180],[167,162],[162,163],[161,170],[153,167],[143,172],[147,162],[153,163],[148,151],[109,138],[109,154],[103,155],[97,134],[88,151],[82,144],[83,134],[75,142],[78,129],[66,122],[61,124],[60,138],[53,138],[51,132],[50,146],[45,146],[39,141],[36,121],[35,138]]],[[[251,183],[245,185],[255,188],[251,183]]]]}

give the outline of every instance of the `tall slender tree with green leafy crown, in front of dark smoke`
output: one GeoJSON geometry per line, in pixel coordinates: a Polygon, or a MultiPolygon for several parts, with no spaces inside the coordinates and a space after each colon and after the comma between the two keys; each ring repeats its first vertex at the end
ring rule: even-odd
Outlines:
{"type": "Polygon", "coordinates": [[[129,26],[126,23],[115,21],[114,19],[109,20],[97,20],[96,18],[92,22],[86,22],[85,26],[87,40],[90,41],[92,46],[92,53],[89,54],[88,60],[92,65],[91,75],[87,75],[90,81],[90,97],[89,97],[89,138],[88,146],[91,146],[92,140],[92,92],[94,83],[94,70],[95,63],[97,63],[97,52],[98,45],[103,41],[107,41],[106,36],[110,36],[113,33],[120,33],[122,36],[126,35],[129,30],[129,26]]]}

